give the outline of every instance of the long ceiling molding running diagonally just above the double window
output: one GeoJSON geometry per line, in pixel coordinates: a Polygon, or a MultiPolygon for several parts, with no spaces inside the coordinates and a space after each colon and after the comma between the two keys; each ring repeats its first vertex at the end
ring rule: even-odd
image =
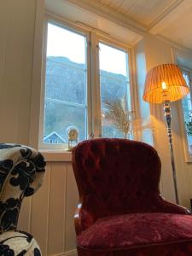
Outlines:
{"type": "MultiPolygon", "coordinates": [[[[63,1],[63,0],[61,0],[63,1]]],[[[66,0],[67,3],[79,6],[81,9],[86,9],[96,15],[100,15],[105,19],[108,19],[119,26],[123,26],[127,29],[130,29],[132,32],[136,32],[139,35],[143,36],[147,32],[147,27],[143,26],[136,20],[129,18],[126,15],[120,14],[118,11],[110,8],[106,4],[98,3],[95,0],[66,0]]]]}

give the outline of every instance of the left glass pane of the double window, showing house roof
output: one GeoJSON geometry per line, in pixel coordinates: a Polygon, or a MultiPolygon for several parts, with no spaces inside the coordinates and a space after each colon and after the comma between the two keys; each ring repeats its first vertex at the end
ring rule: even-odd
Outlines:
{"type": "Polygon", "coordinates": [[[44,143],[67,143],[75,127],[87,135],[87,67],[84,35],[48,23],[44,98],[44,143]]]}

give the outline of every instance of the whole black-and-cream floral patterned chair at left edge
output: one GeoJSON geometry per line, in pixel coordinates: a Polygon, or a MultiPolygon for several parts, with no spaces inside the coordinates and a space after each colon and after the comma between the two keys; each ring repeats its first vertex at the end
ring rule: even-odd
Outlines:
{"type": "Polygon", "coordinates": [[[20,206],[44,179],[45,161],[35,149],[0,144],[0,256],[40,256],[32,235],[17,230],[20,206]]]}

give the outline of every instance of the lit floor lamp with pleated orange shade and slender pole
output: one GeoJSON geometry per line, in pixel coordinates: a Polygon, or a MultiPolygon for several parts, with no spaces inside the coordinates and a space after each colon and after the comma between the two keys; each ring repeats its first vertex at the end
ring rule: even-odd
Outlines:
{"type": "Polygon", "coordinates": [[[189,87],[183,79],[183,74],[175,64],[162,64],[153,67],[147,73],[145,79],[145,88],[143,91],[143,100],[150,103],[163,103],[164,115],[166,118],[167,135],[172,161],[172,177],[177,204],[177,178],[176,167],[172,148],[171,121],[172,114],[170,102],[176,102],[189,93],[189,87]]]}

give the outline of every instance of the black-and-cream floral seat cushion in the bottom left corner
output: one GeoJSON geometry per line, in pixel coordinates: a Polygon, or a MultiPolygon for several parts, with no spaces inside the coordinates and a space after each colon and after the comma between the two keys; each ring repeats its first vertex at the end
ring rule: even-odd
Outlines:
{"type": "Polygon", "coordinates": [[[32,235],[23,231],[7,231],[0,235],[0,255],[41,256],[41,252],[32,235]]]}

